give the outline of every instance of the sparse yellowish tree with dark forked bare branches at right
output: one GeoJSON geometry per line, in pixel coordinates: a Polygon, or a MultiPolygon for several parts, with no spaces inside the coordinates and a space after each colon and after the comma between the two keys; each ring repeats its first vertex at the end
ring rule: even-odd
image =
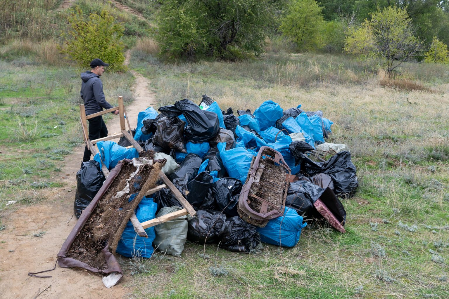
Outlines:
{"type": "Polygon", "coordinates": [[[386,7],[371,13],[371,20],[346,39],[345,50],[358,57],[381,57],[388,73],[404,61],[420,55],[422,42],[414,36],[414,28],[404,9],[386,7]]]}

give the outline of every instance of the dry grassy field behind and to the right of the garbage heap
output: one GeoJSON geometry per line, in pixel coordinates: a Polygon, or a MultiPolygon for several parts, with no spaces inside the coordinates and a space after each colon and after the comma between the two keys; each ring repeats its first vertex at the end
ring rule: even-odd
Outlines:
{"type": "Polygon", "coordinates": [[[343,199],[346,234],[308,226],[296,247],[282,251],[264,244],[256,254],[239,255],[188,243],[181,258],[158,254],[141,261],[143,271],[136,271],[136,261],[122,261],[133,277],[130,298],[449,294],[447,66],[403,69],[401,76],[421,80],[433,93],[381,87],[374,72],[345,56],[169,65],[134,51],[131,67],[151,79],[160,106],[183,98],[199,102],[207,94],[234,111],[254,111],[268,99],[282,108],[323,110],[335,122],[329,142],[350,147],[360,187],[343,199]],[[211,266],[228,274],[214,276],[211,266]]]}

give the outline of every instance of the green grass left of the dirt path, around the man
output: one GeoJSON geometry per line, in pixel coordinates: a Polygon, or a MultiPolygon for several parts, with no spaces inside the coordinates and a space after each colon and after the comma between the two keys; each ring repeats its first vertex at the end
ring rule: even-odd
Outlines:
{"type": "MultiPolygon", "coordinates": [[[[37,186],[59,186],[54,177],[65,156],[83,143],[79,124],[79,69],[28,65],[17,68],[0,61],[0,211],[9,200],[33,203],[37,186]],[[20,183],[15,183],[20,182],[20,183]],[[25,198],[25,199],[22,199],[25,198]]],[[[102,77],[106,100],[117,95],[133,100],[132,74],[106,73],[102,77]]],[[[107,119],[107,117],[106,117],[107,119]]],[[[82,157],[79,157],[82,160],[82,157]]],[[[39,188],[38,188],[39,189],[39,188]]]]}

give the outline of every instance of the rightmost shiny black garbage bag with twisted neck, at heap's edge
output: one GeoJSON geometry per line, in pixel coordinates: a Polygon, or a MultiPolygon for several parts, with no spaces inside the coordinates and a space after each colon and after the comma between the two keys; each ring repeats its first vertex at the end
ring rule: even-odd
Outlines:
{"type": "MultiPolygon", "coordinates": [[[[301,166],[301,170],[304,170],[301,166]]],[[[348,151],[339,152],[329,160],[321,164],[321,169],[307,169],[309,175],[326,173],[334,182],[335,195],[351,197],[355,189],[359,186],[357,181],[356,166],[351,161],[351,153],[348,151]]]]}

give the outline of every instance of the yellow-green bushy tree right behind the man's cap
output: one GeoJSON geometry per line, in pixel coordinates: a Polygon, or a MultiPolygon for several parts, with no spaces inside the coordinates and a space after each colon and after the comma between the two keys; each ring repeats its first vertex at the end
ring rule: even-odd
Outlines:
{"type": "Polygon", "coordinates": [[[123,56],[123,43],[120,38],[123,35],[123,26],[115,22],[115,17],[107,10],[100,15],[91,13],[85,20],[83,11],[79,6],[68,17],[69,30],[62,36],[66,39],[66,48],[62,53],[68,59],[75,60],[82,68],[88,68],[90,61],[101,58],[109,63],[109,69],[123,71],[125,56],[123,56]]]}

